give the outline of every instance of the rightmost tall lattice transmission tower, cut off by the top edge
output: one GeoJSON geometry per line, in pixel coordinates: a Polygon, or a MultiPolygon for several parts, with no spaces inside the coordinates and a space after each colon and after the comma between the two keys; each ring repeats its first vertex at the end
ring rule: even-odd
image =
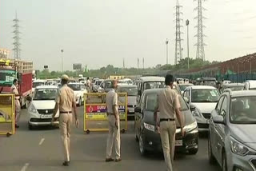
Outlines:
{"type": "Polygon", "coordinates": [[[203,38],[206,37],[206,35],[203,34],[203,28],[205,27],[203,26],[203,20],[206,18],[202,15],[202,10],[206,10],[204,7],[202,7],[202,1],[205,1],[205,0],[194,0],[194,1],[198,2],[198,6],[194,9],[198,11],[198,16],[195,18],[198,20],[198,25],[195,26],[198,29],[198,32],[195,35],[195,37],[198,39],[197,43],[195,44],[195,46],[197,46],[196,58],[205,60],[204,46],[206,46],[206,44],[203,42],[203,38]]]}

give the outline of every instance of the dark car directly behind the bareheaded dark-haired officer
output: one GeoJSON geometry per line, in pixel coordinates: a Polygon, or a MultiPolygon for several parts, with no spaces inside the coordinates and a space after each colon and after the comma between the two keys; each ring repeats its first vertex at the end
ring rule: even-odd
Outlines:
{"type": "MultiPolygon", "coordinates": [[[[139,142],[139,150],[142,155],[147,151],[162,151],[161,137],[156,131],[154,121],[154,108],[157,105],[159,91],[161,89],[145,90],[138,107],[135,108],[135,137],[139,142]]],[[[198,153],[198,125],[181,95],[179,95],[179,100],[182,114],[185,117],[186,135],[182,137],[180,126],[176,121],[175,150],[196,154],[198,153]]]]}

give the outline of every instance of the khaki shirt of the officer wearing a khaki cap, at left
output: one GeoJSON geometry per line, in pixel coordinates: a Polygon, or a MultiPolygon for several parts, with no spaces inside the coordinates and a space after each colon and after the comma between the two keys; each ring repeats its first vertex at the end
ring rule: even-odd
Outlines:
{"type": "Polygon", "coordinates": [[[62,85],[58,90],[55,102],[59,104],[60,112],[72,111],[72,104],[75,103],[74,91],[67,85],[62,85]]]}

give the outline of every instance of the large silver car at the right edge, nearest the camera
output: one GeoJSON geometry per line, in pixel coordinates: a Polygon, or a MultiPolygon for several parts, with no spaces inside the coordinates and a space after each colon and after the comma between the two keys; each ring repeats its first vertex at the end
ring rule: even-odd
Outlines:
{"type": "Polygon", "coordinates": [[[208,153],[224,171],[256,170],[256,91],[222,93],[211,113],[208,153]]]}

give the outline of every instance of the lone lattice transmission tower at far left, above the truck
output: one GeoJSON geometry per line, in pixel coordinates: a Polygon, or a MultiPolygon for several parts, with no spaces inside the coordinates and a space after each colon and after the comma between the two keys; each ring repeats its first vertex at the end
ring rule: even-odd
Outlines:
{"type": "Polygon", "coordinates": [[[14,43],[13,43],[13,45],[14,45],[14,58],[15,59],[20,59],[21,58],[21,49],[20,49],[20,42],[19,42],[19,40],[21,39],[20,37],[19,37],[19,34],[21,34],[21,32],[19,32],[19,25],[18,25],[18,22],[19,22],[19,20],[18,20],[18,18],[17,18],[17,12],[16,12],[16,18],[13,20],[13,22],[14,22],[14,31],[13,31],[13,33],[14,33],[14,43]]]}

